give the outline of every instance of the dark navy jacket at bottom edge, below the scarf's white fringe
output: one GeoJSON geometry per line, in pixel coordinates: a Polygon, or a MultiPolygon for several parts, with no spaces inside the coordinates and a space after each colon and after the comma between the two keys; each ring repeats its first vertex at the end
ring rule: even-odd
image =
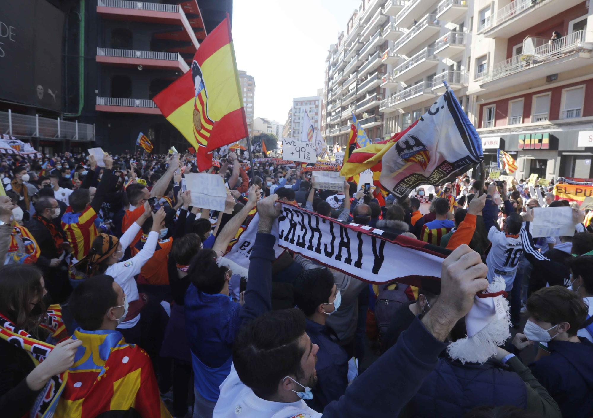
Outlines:
{"type": "Polygon", "coordinates": [[[439,359],[409,404],[412,417],[461,417],[480,405],[527,407],[527,388],[521,377],[486,362],[439,359]]]}

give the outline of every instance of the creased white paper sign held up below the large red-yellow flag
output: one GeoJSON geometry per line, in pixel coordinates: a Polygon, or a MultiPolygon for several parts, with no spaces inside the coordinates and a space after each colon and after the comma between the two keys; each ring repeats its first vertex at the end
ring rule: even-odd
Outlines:
{"type": "Polygon", "coordinates": [[[224,211],[227,187],[218,174],[187,173],[186,188],[191,192],[193,207],[224,211]]]}

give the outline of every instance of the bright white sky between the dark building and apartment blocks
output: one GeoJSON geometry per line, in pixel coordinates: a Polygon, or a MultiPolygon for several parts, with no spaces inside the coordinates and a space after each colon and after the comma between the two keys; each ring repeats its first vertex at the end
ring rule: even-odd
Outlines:
{"type": "Polygon", "coordinates": [[[327,50],[360,0],[235,0],[238,69],[256,81],[254,118],[283,124],[293,97],[323,88],[327,50]]]}

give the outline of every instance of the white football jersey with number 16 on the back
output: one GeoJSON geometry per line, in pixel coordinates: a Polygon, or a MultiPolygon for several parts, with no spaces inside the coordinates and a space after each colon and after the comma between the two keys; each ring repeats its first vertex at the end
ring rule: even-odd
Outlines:
{"type": "Polygon", "coordinates": [[[523,255],[523,243],[519,235],[505,234],[490,227],[488,240],[492,243],[486,265],[488,266],[488,283],[492,283],[495,276],[505,279],[506,291],[513,288],[517,266],[523,255]]]}

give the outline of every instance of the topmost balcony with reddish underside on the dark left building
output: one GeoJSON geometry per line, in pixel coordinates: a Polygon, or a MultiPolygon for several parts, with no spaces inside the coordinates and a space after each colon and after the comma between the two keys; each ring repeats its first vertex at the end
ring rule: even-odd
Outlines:
{"type": "Polygon", "coordinates": [[[149,3],[129,0],[97,0],[97,13],[111,20],[126,20],[146,23],[160,23],[183,26],[179,39],[192,42],[197,49],[196,34],[183,9],[178,4],[149,3]]]}

